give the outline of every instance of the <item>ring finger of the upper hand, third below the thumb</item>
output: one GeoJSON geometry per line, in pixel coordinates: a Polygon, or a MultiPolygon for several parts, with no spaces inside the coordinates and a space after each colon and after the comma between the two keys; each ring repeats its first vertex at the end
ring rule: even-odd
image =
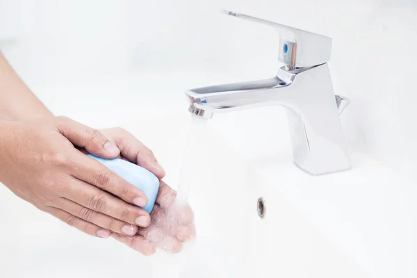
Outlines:
{"type": "Polygon", "coordinates": [[[97,213],[97,211],[81,206],[76,202],[72,202],[70,199],[60,198],[59,203],[55,207],[67,211],[77,218],[116,233],[134,236],[138,232],[138,226],[136,225],[122,222],[103,213],[97,213]]]}

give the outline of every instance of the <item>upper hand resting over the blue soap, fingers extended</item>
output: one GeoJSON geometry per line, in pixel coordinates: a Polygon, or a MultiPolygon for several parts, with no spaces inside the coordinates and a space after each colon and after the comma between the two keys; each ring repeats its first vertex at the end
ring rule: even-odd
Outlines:
{"type": "Polygon", "coordinates": [[[147,227],[150,216],[138,208],[145,194],[74,146],[102,158],[120,154],[99,131],[67,117],[0,121],[0,182],[91,236],[132,236],[147,227]]]}

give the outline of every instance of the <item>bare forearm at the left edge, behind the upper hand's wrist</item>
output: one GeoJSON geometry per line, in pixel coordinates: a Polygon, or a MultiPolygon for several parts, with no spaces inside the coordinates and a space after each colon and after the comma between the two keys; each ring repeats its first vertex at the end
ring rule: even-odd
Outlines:
{"type": "Polygon", "coordinates": [[[51,115],[0,51],[0,119],[28,120],[51,115]]]}

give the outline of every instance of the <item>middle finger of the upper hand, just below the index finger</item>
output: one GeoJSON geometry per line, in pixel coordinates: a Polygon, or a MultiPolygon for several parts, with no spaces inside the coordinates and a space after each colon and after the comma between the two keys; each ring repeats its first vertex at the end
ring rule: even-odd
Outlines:
{"type": "Polygon", "coordinates": [[[128,204],[84,181],[71,179],[67,189],[63,197],[81,206],[129,224],[137,224],[141,227],[147,227],[150,224],[150,216],[142,208],[128,204]]]}

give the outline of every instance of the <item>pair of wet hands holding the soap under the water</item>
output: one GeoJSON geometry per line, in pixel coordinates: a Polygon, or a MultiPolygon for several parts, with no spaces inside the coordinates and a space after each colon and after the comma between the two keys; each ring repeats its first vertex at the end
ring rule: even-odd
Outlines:
{"type": "Polygon", "coordinates": [[[27,122],[0,121],[0,181],[15,195],[67,224],[101,238],[113,238],[150,255],[160,247],[179,252],[195,236],[190,206],[161,181],[149,215],[146,196],[83,152],[123,158],[162,179],[154,154],[124,129],[97,131],[67,117],[27,122]]]}

